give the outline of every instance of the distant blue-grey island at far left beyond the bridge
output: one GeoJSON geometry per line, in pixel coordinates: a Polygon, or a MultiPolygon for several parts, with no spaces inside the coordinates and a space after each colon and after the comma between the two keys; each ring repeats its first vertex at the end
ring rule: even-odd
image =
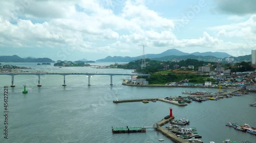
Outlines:
{"type": "Polygon", "coordinates": [[[5,62],[5,63],[55,63],[55,61],[52,61],[49,58],[20,58],[17,55],[4,55],[0,56],[0,62],[5,62]]]}

